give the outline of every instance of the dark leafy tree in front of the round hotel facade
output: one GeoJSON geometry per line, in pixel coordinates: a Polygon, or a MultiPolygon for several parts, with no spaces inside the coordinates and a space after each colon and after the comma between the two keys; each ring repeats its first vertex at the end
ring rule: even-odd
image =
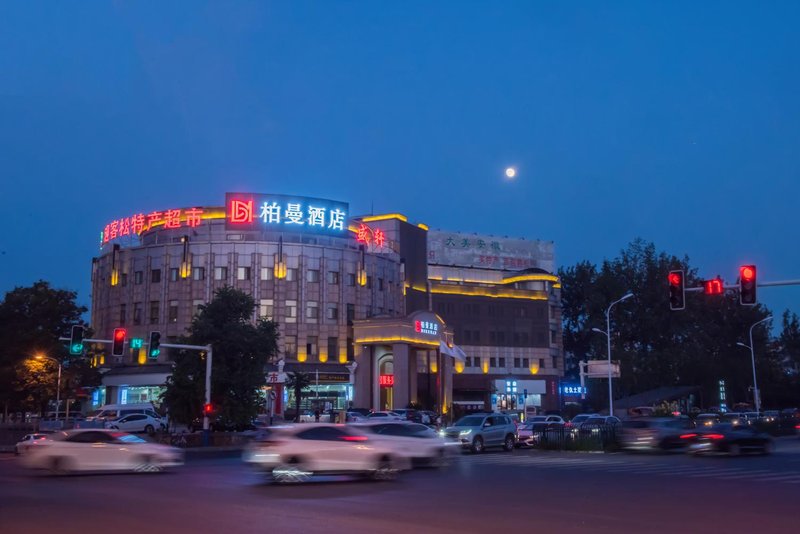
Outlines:
{"type": "MultiPolygon", "coordinates": [[[[189,336],[181,343],[211,345],[211,403],[215,413],[234,425],[249,424],[258,413],[266,385],[265,367],[278,353],[277,325],[258,319],[253,324],[255,301],[231,287],[214,293],[200,306],[189,336]]],[[[189,424],[199,417],[205,390],[205,355],[198,351],[178,353],[172,376],[167,379],[162,401],[170,417],[189,424]]]]}

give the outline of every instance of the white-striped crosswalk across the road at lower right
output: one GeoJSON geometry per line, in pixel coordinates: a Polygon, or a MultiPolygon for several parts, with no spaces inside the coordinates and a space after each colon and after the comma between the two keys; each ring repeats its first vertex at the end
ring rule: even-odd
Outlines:
{"type": "Polygon", "coordinates": [[[462,456],[460,465],[496,465],[533,467],[542,469],[575,469],[586,471],[602,471],[605,473],[672,476],[697,479],[716,479],[730,481],[754,481],[772,484],[800,484],[800,469],[795,466],[770,466],[765,469],[752,467],[730,467],[690,465],[669,462],[645,462],[627,456],[576,455],[574,457],[521,454],[484,454],[462,456]]]}

